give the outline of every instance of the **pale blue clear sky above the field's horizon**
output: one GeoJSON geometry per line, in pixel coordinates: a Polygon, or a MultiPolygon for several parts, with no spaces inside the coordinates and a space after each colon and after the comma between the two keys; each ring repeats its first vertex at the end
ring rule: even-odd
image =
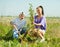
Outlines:
{"type": "Polygon", "coordinates": [[[60,17],[60,0],[0,0],[0,16],[18,16],[21,12],[28,16],[29,3],[35,12],[36,7],[42,5],[45,16],[60,17]]]}

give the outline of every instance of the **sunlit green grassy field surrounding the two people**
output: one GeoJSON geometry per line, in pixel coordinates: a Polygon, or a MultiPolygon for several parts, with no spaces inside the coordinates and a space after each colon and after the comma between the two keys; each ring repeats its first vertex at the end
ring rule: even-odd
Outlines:
{"type": "MultiPolygon", "coordinates": [[[[22,42],[19,39],[13,39],[10,37],[12,29],[10,21],[16,17],[0,17],[0,47],[60,47],[60,18],[59,17],[47,17],[47,30],[45,34],[45,42],[36,42],[34,37],[29,35],[23,39],[22,42]]],[[[27,22],[29,18],[26,18],[27,22]],[[28,20],[27,20],[28,19],[28,20]]],[[[22,35],[23,36],[23,35],[22,35]]],[[[36,38],[35,38],[36,39],[36,38]]],[[[39,40],[39,38],[37,39],[39,40]]]]}

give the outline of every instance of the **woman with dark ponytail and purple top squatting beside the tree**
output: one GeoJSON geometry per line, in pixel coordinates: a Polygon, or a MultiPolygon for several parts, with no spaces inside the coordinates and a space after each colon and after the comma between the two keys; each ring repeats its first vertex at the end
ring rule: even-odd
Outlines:
{"type": "Polygon", "coordinates": [[[35,26],[34,32],[38,33],[38,35],[41,37],[41,42],[43,42],[45,40],[44,34],[46,31],[46,19],[44,16],[43,7],[38,6],[36,8],[36,11],[37,11],[38,15],[36,15],[34,17],[34,22],[33,22],[33,24],[35,26]],[[38,30],[38,32],[37,32],[37,30],[38,30]]]}

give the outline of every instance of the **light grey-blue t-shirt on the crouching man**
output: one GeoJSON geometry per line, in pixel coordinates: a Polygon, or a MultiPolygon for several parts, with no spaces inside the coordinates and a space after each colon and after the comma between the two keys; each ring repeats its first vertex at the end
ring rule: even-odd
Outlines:
{"type": "MultiPolygon", "coordinates": [[[[22,29],[26,25],[25,19],[20,20],[20,18],[12,20],[11,23],[15,24],[18,30],[22,29]]],[[[15,31],[15,29],[13,31],[15,31]]]]}

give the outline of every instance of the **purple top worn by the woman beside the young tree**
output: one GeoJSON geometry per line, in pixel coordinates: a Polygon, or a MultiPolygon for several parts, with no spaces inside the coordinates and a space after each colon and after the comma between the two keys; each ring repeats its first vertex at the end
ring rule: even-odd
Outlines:
{"type": "Polygon", "coordinates": [[[37,16],[35,16],[35,17],[34,17],[34,22],[37,23],[37,24],[38,24],[38,23],[41,24],[41,26],[35,25],[35,28],[40,28],[40,29],[42,29],[42,30],[46,30],[46,19],[45,19],[44,16],[41,17],[40,19],[38,19],[37,16]]]}

